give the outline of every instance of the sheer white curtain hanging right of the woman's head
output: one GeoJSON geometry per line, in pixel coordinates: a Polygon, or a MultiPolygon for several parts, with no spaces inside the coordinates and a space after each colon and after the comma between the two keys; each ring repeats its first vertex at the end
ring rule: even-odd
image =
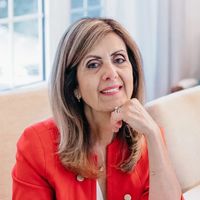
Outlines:
{"type": "Polygon", "coordinates": [[[183,78],[200,79],[199,0],[111,0],[106,16],[124,24],[143,57],[146,100],[183,78]]]}

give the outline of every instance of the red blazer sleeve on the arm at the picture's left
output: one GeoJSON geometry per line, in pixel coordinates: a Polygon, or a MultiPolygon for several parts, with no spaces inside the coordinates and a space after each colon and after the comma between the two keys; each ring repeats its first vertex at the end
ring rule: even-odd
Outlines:
{"type": "Polygon", "coordinates": [[[30,127],[17,143],[16,164],[12,171],[12,199],[53,199],[53,190],[46,177],[44,149],[39,135],[30,127]]]}

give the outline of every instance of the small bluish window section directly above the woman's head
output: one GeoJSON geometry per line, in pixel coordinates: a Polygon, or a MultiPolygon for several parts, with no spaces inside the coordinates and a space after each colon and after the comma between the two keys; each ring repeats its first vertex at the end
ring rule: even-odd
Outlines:
{"type": "Polygon", "coordinates": [[[82,17],[102,16],[101,0],[71,0],[71,22],[82,17]]]}

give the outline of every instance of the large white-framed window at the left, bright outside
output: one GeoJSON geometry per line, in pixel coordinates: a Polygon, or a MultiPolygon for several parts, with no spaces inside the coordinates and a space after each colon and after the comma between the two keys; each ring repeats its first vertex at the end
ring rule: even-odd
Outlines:
{"type": "Polygon", "coordinates": [[[0,0],[0,90],[42,81],[43,0],[0,0]]]}

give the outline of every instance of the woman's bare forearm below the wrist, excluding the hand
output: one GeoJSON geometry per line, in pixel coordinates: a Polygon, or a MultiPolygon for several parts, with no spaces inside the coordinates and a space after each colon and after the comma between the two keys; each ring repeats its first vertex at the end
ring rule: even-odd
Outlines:
{"type": "Polygon", "coordinates": [[[149,199],[178,200],[181,188],[169,160],[160,129],[146,136],[149,156],[150,191],[149,199]]]}

